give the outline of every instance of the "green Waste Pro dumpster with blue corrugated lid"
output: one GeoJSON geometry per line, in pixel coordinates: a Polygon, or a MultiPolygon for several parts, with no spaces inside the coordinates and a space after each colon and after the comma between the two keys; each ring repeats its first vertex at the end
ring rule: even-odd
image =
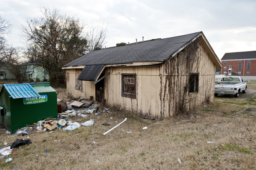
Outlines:
{"type": "Polygon", "coordinates": [[[50,83],[3,84],[0,113],[0,124],[11,133],[47,117],[57,118],[57,92],[50,83]]]}

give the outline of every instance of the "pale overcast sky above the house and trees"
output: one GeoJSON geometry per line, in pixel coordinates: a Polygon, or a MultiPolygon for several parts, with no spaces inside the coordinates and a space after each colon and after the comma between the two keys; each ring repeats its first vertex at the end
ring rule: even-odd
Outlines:
{"type": "Polygon", "coordinates": [[[202,31],[219,59],[225,53],[256,51],[256,0],[0,0],[0,15],[13,25],[9,44],[26,45],[20,27],[27,18],[41,17],[42,7],[59,9],[82,24],[104,23],[107,48],[135,38],[202,31]]]}

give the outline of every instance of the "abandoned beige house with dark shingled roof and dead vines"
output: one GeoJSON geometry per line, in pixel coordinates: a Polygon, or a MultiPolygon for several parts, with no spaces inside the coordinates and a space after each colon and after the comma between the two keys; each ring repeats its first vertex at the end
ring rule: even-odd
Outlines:
{"type": "Polygon", "coordinates": [[[213,101],[222,64],[202,32],[120,43],[88,53],[66,69],[67,95],[93,96],[147,119],[163,119],[213,101]]]}

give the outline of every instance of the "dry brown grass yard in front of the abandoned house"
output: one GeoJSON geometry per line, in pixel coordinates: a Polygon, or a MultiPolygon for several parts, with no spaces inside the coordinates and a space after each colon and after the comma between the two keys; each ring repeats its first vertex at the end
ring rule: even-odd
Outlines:
{"type": "MultiPolygon", "coordinates": [[[[58,98],[65,100],[65,89],[58,91],[58,98]]],[[[43,132],[28,135],[32,144],[17,148],[9,155],[13,159],[10,162],[5,162],[7,158],[0,159],[0,168],[255,169],[256,112],[246,111],[247,108],[256,108],[256,97],[215,97],[213,103],[204,103],[187,115],[163,121],[142,119],[130,113],[111,109],[110,113],[103,113],[100,108],[99,115],[89,114],[86,118],[72,119],[72,122],[80,124],[90,118],[96,119],[93,126],[81,126],[69,132],[54,130],[47,134],[43,132]],[[108,134],[102,135],[124,118],[127,118],[127,121],[108,134]],[[111,126],[103,126],[103,123],[111,126]],[[148,129],[142,130],[145,126],[148,129]],[[57,142],[54,142],[55,140],[57,142]]],[[[8,136],[6,130],[1,129],[0,143],[7,141],[11,145],[16,139],[27,139],[27,136],[8,136]]]]}

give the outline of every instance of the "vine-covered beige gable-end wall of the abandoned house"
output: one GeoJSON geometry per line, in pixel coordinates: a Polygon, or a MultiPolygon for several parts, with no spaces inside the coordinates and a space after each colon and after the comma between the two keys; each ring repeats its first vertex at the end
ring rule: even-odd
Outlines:
{"type": "Polygon", "coordinates": [[[199,47],[198,57],[190,61],[185,57],[186,52],[181,51],[179,55],[162,65],[161,118],[176,115],[204,101],[213,101],[215,65],[202,46],[199,47]],[[198,93],[184,90],[189,83],[189,73],[199,73],[198,93]]]}

